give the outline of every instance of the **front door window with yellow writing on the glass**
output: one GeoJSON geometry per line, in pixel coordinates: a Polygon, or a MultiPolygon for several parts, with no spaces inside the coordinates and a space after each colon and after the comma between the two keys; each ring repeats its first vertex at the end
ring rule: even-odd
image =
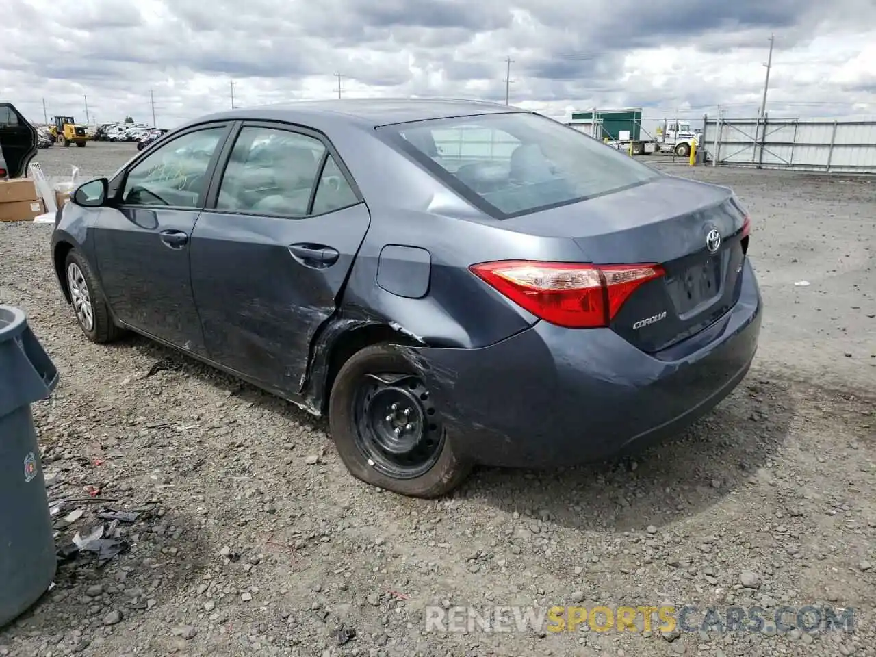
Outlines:
{"type": "Polygon", "coordinates": [[[124,181],[125,205],[200,208],[210,160],[225,127],[188,132],[140,160],[124,181]]]}

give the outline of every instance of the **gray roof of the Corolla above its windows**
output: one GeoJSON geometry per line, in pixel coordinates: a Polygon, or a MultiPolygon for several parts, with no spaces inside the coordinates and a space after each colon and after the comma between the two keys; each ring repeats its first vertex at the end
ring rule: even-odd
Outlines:
{"type": "Polygon", "coordinates": [[[200,117],[191,124],[230,119],[300,121],[302,123],[307,123],[310,120],[320,124],[339,120],[375,128],[381,125],[405,124],[437,118],[526,111],[528,110],[500,105],[495,102],[455,98],[350,98],[287,102],[231,109],[208,117],[200,117]]]}

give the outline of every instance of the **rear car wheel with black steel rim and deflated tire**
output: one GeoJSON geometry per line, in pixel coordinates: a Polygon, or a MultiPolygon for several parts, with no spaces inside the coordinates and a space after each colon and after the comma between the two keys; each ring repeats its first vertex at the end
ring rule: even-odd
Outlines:
{"type": "Polygon", "coordinates": [[[332,440],[347,470],[366,484],[412,498],[441,497],[463,483],[471,463],[457,454],[453,437],[443,427],[441,412],[432,405],[420,372],[401,349],[398,345],[377,344],[358,351],[343,364],[329,397],[332,440]],[[404,378],[391,385],[373,378],[379,375],[388,381],[392,378],[388,373],[404,378]],[[388,410],[395,408],[392,399],[399,399],[405,407],[388,410]],[[393,470],[392,464],[386,463],[392,462],[395,455],[386,459],[387,452],[375,448],[376,442],[380,442],[378,429],[393,426],[390,415],[384,416],[383,404],[387,406],[385,413],[399,413],[404,422],[408,422],[405,418],[411,420],[405,427],[397,428],[404,430],[416,425],[403,438],[420,445],[410,452],[416,455],[410,457],[411,462],[419,466],[393,470]],[[406,411],[411,414],[401,414],[406,411]],[[375,427],[375,423],[382,426],[375,427]]]}

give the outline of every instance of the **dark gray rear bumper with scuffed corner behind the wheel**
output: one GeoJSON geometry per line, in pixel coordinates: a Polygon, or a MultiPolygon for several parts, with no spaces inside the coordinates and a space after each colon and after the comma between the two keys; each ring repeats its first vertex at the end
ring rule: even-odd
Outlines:
{"type": "Polygon", "coordinates": [[[553,466],[616,456],[677,434],[745,377],[762,300],[745,261],[730,312],[682,343],[646,354],[610,329],[539,322],[477,350],[416,348],[456,449],[477,463],[553,466]]]}

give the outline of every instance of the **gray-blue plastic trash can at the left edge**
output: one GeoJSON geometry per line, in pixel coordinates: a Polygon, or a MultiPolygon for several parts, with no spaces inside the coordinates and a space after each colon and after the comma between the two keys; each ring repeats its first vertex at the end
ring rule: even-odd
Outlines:
{"type": "Polygon", "coordinates": [[[58,564],[31,414],[57,383],[25,313],[0,306],[0,627],[48,590],[58,564]]]}

